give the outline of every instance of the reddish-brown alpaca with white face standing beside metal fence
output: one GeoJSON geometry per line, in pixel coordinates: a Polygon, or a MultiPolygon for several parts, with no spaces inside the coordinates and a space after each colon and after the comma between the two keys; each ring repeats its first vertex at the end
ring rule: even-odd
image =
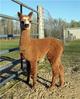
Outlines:
{"type": "MultiPolygon", "coordinates": [[[[37,62],[47,56],[50,64],[52,65],[52,82],[51,86],[55,85],[56,78],[60,78],[61,86],[64,85],[64,68],[61,63],[61,56],[63,53],[63,44],[55,38],[33,39],[30,37],[31,17],[29,15],[22,15],[18,12],[21,25],[21,38],[20,38],[20,54],[30,62],[31,71],[30,75],[33,79],[33,87],[37,79],[37,62]]],[[[29,82],[29,78],[27,82],[29,82]]]]}

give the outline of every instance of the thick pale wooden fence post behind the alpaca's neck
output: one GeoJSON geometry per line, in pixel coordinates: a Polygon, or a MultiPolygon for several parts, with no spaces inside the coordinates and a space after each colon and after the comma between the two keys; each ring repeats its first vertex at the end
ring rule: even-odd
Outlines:
{"type": "Polygon", "coordinates": [[[38,11],[38,34],[39,38],[44,38],[44,17],[42,6],[37,6],[38,11]]]}

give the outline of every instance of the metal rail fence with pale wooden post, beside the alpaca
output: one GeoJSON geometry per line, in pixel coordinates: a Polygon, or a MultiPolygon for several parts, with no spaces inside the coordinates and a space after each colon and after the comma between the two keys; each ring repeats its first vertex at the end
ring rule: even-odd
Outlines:
{"type": "MultiPolygon", "coordinates": [[[[16,1],[16,0],[11,0],[11,1],[20,5],[20,12],[21,13],[22,13],[22,8],[25,7],[29,10],[32,10],[33,12],[35,12],[37,14],[37,23],[32,23],[32,24],[37,24],[37,33],[40,34],[39,37],[40,38],[44,37],[43,21],[41,21],[41,20],[43,20],[41,7],[37,7],[38,10],[36,11],[36,10],[32,9],[31,7],[21,3],[20,1],[16,1]]],[[[3,15],[3,14],[0,14],[0,17],[18,21],[17,18],[7,16],[7,15],[3,15]]],[[[18,31],[18,32],[20,32],[20,31],[18,31]]],[[[0,38],[12,38],[12,37],[16,37],[16,36],[20,36],[20,34],[19,35],[18,34],[6,34],[6,35],[4,34],[4,35],[0,35],[0,38]]],[[[0,51],[0,62],[5,61],[4,59],[1,58],[2,55],[5,55],[6,53],[18,51],[18,50],[19,50],[19,48],[12,48],[12,49],[9,49],[9,50],[0,51]]],[[[0,85],[5,84],[7,81],[17,77],[20,74],[20,71],[15,71],[15,72],[11,71],[11,69],[19,63],[20,63],[20,59],[16,59],[16,60],[13,60],[11,63],[6,64],[4,67],[0,67],[0,85]],[[7,73],[9,75],[7,77],[5,77],[5,76],[3,76],[4,73],[7,73]]]]}

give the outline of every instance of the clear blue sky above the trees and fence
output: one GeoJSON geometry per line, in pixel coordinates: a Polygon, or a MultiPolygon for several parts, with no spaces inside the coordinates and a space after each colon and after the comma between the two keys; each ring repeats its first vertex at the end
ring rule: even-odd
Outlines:
{"type": "MultiPolygon", "coordinates": [[[[19,0],[18,0],[19,1],[19,0]]],[[[53,18],[61,18],[70,22],[71,20],[80,21],[80,0],[20,0],[29,7],[36,10],[37,5],[41,5],[48,10],[53,18]]],[[[17,16],[19,5],[11,0],[0,0],[0,14],[17,16]]],[[[23,13],[27,14],[29,10],[24,8],[23,13]]]]}

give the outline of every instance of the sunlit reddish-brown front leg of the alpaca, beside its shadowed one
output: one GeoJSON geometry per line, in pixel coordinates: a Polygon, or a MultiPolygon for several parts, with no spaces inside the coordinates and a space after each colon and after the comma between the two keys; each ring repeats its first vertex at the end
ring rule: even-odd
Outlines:
{"type": "Polygon", "coordinates": [[[32,61],[31,62],[31,76],[33,79],[33,86],[35,86],[36,84],[36,80],[37,80],[37,62],[36,61],[32,61]]]}

